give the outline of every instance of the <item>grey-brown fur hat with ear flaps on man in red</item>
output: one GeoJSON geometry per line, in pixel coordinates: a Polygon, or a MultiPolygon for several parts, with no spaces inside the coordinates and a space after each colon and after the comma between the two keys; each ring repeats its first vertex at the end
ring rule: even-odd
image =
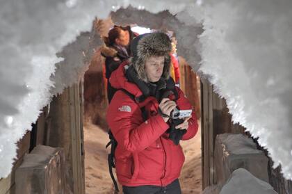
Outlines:
{"type": "Polygon", "coordinates": [[[135,68],[138,78],[149,82],[145,72],[145,62],[150,56],[164,56],[162,78],[167,80],[170,76],[171,41],[168,35],[161,32],[138,35],[131,42],[131,65],[135,68]]]}

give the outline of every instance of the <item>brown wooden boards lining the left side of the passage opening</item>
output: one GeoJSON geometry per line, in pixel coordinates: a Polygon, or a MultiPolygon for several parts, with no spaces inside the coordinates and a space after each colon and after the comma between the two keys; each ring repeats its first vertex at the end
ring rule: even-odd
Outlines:
{"type": "Polygon", "coordinates": [[[49,111],[50,129],[47,130],[47,145],[64,149],[67,186],[74,194],[85,193],[81,96],[82,86],[74,84],[54,97],[49,111]]]}

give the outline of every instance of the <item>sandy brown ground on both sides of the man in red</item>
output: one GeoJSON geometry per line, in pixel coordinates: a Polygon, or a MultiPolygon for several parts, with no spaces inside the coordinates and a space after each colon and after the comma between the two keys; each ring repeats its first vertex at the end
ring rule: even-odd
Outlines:
{"type": "MultiPolygon", "coordinates": [[[[200,123],[200,121],[199,121],[200,123]]],[[[113,193],[113,182],[108,172],[107,152],[108,134],[99,126],[84,124],[86,194],[113,193]]],[[[183,194],[201,193],[201,131],[195,138],[181,143],[186,161],[179,181],[183,194]]]]}

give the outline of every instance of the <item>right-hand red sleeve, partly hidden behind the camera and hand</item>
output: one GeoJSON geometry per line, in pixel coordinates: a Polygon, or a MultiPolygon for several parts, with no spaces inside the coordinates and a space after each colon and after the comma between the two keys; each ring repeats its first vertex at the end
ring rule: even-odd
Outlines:
{"type": "Polygon", "coordinates": [[[179,88],[177,88],[179,98],[177,99],[177,106],[180,110],[186,110],[186,109],[192,109],[192,117],[188,120],[188,129],[186,131],[186,134],[181,138],[181,140],[189,140],[190,138],[193,138],[195,134],[197,134],[197,129],[199,125],[197,124],[197,116],[195,115],[194,108],[188,102],[188,99],[186,99],[186,96],[184,95],[184,92],[182,92],[179,88]]]}

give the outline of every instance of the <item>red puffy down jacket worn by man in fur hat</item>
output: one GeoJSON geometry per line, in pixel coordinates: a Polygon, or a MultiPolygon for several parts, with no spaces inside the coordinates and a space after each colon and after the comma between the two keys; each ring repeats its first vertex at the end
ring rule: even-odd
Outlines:
{"type": "MultiPolygon", "coordinates": [[[[135,83],[124,76],[124,62],[111,75],[110,82],[115,88],[123,88],[136,97],[142,92],[135,83]]],[[[192,108],[183,92],[179,93],[177,106],[192,108]]],[[[115,95],[108,107],[106,120],[117,140],[115,168],[117,179],[124,186],[154,185],[166,186],[179,177],[184,163],[184,153],[180,145],[168,139],[165,131],[169,125],[157,113],[159,103],[154,97],[147,97],[141,104],[134,102],[122,90],[115,95]],[[148,119],[144,122],[140,107],[145,106],[148,119]]],[[[193,138],[197,133],[195,112],[188,120],[188,131],[182,140],[193,138]]]]}

